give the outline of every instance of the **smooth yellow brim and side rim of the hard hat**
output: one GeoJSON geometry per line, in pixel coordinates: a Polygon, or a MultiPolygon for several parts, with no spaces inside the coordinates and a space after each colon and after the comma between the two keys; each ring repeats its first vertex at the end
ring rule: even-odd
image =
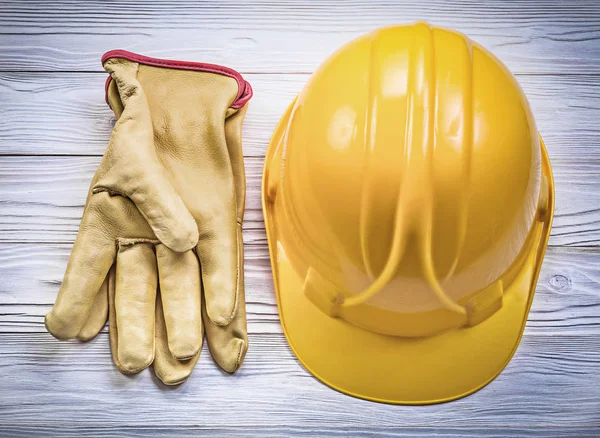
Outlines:
{"type": "Polygon", "coordinates": [[[321,312],[304,294],[304,278],[296,273],[280,242],[278,218],[267,199],[267,177],[272,166],[280,165],[274,163],[275,149],[293,105],[279,122],[267,151],[262,202],[279,315],[296,357],[326,385],[384,403],[441,403],[467,396],[490,383],[519,345],[550,235],[554,182],[543,142],[547,214],[534,222],[531,248],[515,280],[505,287],[500,310],[476,326],[437,336],[386,336],[321,312]]]}

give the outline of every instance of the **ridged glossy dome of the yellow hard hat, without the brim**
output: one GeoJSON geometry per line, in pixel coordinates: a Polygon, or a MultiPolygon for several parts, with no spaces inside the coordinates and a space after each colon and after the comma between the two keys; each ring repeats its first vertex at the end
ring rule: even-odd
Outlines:
{"type": "Polygon", "coordinates": [[[424,336],[501,306],[542,169],[527,100],[487,50],[423,23],[363,36],[313,75],[280,143],[282,239],[324,311],[424,336]]]}

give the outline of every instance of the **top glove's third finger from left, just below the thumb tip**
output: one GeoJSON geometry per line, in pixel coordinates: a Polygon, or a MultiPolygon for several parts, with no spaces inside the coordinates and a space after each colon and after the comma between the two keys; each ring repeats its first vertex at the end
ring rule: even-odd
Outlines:
{"type": "Polygon", "coordinates": [[[176,359],[189,359],[203,336],[198,259],[193,251],[177,253],[159,244],[156,260],[169,350],[176,359]]]}

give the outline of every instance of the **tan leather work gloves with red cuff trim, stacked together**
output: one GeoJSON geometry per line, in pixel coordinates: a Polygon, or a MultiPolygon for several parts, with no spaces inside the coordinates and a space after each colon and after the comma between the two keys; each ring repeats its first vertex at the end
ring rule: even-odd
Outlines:
{"type": "Polygon", "coordinates": [[[205,331],[234,372],[248,345],[241,126],[252,88],[210,64],[112,51],[103,65],[117,122],[46,327],[89,340],[109,315],[119,370],[153,364],[166,384],[191,374],[205,331]]]}

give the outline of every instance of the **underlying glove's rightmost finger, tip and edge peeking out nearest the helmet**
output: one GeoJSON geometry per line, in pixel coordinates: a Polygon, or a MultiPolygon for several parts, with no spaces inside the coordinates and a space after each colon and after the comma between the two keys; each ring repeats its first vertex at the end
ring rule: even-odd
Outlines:
{"type": "MultiPolygon", "coordinates": [[[[242,228],[238,226],[238,242],[240,243],[239,251],[239,293],[238,293],[238,309],[226,326],[215,324],[205,315],[207,306],[202,306],[204,328],[206,330],[206,340],[210,353],[215,362],[228,373],[235,372],[244,361],[246,351],[248,350],[248,329],[246,326],[246,298],[244,293],[244,252],[242,247],[242,228]]],[[[208,301],[208,297],[204,296],[208,301]]],[[[204,304],[204,303],[203,303],[204,304]]]]}

